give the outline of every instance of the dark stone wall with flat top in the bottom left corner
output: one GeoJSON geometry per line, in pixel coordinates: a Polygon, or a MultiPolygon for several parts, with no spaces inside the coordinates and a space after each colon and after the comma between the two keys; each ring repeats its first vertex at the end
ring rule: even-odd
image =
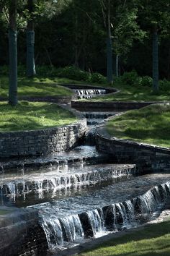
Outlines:
{"type": "Polygon", "coordinates": [[[47,255],[48,243],[38,223],[37,210],[9,207],[0,210],[6,210],[0,218],[0,255],[47,255]]]}

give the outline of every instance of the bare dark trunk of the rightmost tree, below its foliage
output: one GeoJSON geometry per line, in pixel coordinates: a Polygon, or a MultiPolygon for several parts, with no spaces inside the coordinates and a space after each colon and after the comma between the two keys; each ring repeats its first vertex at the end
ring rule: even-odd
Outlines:
{"type": "Polygon", "coordinates": [[[158,93],[158,30],[153,30],[153,93],[158,93]]]}

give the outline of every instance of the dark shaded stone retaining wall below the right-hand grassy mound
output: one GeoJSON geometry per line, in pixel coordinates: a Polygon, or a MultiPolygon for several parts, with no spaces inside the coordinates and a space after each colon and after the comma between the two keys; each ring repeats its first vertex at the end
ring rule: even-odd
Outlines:
{"type": "Polygon", "coordinates": [[[115,163],[135,163],[146,170],[170,170],[170,149],[110,137],[104,124],[97,127],[97,149],[109,153],[115,163]]]}

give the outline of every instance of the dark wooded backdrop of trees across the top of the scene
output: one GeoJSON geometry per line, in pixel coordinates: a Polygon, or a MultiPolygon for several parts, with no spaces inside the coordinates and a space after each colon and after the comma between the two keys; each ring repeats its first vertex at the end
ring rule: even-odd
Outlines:
{"type": "Polygon", "coordinates": [[[158,74],[169,79],[169,0],[0,0],[0,11],[0,65],[16,66],[18,57],[29,77],[35,64],[74,64],[110,83],[113,73],[136,69],[153,76],[155,92],[158,74]]]}

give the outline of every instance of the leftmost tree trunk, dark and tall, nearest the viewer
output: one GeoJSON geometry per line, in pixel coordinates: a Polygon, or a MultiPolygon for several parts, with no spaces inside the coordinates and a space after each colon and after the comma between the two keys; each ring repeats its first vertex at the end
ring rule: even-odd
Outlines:
{"type": "Polygon", "coordinates": [[[9,104],[17,105],[17,0],[9,2],[9,104]]]}

